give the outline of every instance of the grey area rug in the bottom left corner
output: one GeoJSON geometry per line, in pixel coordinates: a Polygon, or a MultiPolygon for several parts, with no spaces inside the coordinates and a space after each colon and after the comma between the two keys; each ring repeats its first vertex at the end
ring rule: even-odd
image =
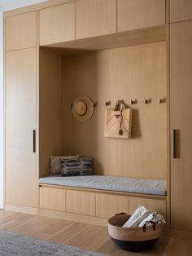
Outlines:
{"type": "Polygon", "coordinates": [[[0,255],[11,256],[104,256],[73,246],[41,241],[28,236],[0,231],[0,255]]]}

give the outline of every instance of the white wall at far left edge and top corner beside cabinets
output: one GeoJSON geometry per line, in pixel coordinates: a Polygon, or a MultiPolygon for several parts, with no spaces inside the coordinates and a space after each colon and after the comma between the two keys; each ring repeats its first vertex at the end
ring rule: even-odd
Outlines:
{"type": "Polygon", "coordinates": [[[3,88],[2,88],[2,11],[45,2],[46,0],[0,0],[0,208],[3,208],[3,88]]]}

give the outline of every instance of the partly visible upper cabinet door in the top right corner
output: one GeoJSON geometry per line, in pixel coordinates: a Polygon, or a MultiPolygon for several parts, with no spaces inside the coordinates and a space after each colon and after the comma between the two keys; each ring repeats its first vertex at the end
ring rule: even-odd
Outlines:
{"type": "Polygon", "coordinates": [[[192,20],[192,0],[170,0],[170,22],[192,20]]]}

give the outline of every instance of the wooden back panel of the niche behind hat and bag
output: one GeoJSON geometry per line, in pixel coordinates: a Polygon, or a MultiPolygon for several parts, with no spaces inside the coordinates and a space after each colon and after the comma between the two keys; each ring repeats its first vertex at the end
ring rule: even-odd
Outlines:
{"type": "Polygon", "coordinates": [[[164,42],[63,58],[63,152],[94,157],[94,174],[167,178],[166,45],[164,42]],[[94,116],[76,121],[78,96],[97,103],[94,116]],[[104,138],[104,100],[137,99],[131,139],[104,138]],[[144,104],[151,99],[151,104],[144,104]]]}

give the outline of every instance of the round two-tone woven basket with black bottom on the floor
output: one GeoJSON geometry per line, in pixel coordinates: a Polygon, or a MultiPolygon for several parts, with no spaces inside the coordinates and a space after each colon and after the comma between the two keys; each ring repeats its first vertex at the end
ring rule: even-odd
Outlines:
{"type": "Polygon", "coordinates": [[[108,220],[111,240],[120,249],[142,251],[151,249],[158,241],[162,224],[144,227],[122,227],[129,219],[128,214],[116,214],[108,220]]]}

